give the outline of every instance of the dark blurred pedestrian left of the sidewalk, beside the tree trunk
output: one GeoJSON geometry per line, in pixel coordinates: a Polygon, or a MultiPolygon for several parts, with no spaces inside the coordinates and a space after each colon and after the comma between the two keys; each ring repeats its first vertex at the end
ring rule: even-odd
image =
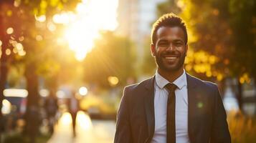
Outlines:
{"type": "Polygon", "coordinates": [[[53,134],[54,124],[56,121],[56,114],[58,111],[57,97],[54,92],[50,91],[49,96],[45,100],[44,109],[47,114],[47,120],[49,125],[49,132],[53,134]]]}

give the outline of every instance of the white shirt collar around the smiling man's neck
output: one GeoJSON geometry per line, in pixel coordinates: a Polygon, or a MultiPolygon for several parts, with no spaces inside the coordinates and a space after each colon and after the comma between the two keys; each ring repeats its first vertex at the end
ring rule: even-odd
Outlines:
{"type": "MultiPolygon", "coordinates": [[[[163,78],[160,74],[158,74],[158,71],[156,70],[156,85],[163,89],[163,87],[166,86],[166,84],[169,84],[170,82],[163,78]]],[[[174,82],[173,84],[175,84],[179,89],[181,89],[182,87],[186,86],[187,85],[187,82],[186,82],[186,71],[184,70],[183,71],[183,74],[181,74],[180,77],[178,77],[174,82]]]]}

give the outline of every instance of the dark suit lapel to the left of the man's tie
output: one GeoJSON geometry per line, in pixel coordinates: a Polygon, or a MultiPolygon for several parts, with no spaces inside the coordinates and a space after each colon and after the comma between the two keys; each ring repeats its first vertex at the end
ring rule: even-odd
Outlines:
{"type": "Polygon", "coordinates": [[[151,140],[153,132],[155,130],[155,114],[154,114],[154,81],[155,77],[151,77],[146,83],[146,92],[144,95],[144,108],[146,111],[146,120],[148,124],[148,139],[146,142],[151,140]]]}

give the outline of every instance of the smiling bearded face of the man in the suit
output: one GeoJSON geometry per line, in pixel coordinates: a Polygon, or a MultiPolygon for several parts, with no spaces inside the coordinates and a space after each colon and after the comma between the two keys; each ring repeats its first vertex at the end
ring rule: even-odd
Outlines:
{"type": "Polygon", "coordinates": [[[179,26],[162,26],[156,31],[156,44],[151,45],[158,68],[163,71],[178,71],[183,64],[188,49],[184,42],[184,31],[179,26]]]}

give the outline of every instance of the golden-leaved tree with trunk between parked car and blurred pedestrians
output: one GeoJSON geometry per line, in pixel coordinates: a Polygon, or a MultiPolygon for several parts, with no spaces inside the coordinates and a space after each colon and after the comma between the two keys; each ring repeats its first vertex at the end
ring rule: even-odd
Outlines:
{"type": "MultiPolygon", "coordinates": [[[[26,112],[26,131],[29,132],[30,138],[32,142],[34,137],[37,135],[39,121],[38,119],[34,119],[35,114],[39,114],[39,87],[38,87],[38,76],[39,76],[39,69],[43,68],[45,62],[54,61],[56,56],[47,56],[51,55],[49,51],[54,51],[54,34],[53,31],[49,31],[46,29],[48,28],[48,24],[52,24],[51,18],[56,12],[60,12],[63,10],[71,10],[75,8],[75,5],[78,1],[60,1],[60,0],[49,0],[49,1],[23,1],[20,8],[24,11],[24,17],[22,17],[22,21],[27,21],[26,23],[22,24],[24,27],[24,36],[25,40],[22,44],[27,51],[27,56],[24,57],[24,65],[25,65],[25,77],[27,79],[27,90],[29,95],[27,97],[27,112],[26,112]],[[38,16],[45,16],[45,23],[41,24],[34,19],[34,15],[38,16]],[[50,39],[47,39],[47,36],[50,39]],[[41,36],[41,38],[40,38],[41,36]],[[41,40],[40,40],[41,39],[41,40]],[[44,40],[42,40],[44,39],[44,40]],[[49,44],[51,43],[51,44],[49,44]],[[47,57],[47,58],[46,58],[47,57]]],[[[52,26],[54,26],[52,24],[52,26]]],[[[57,54],[57,50],[54,52],[57,54]]],[[[56,82],[56,71],[58,71],[56,62],[52,62],[52,65],[55,65],[55,71],[52,74],[52,86],[57,86],[56,82]],[[55,73],[54,73],[55,72],[55,73]]],[[[47,66],[44,66],[44,68],[47,66]]],[[[49,66],[48,66],[49,67],[49,66]]],[[[54,68],[53,68],[54,69],[54,68]]],[[[54,89],[54,87],[53,87],[54,89]]]]}

